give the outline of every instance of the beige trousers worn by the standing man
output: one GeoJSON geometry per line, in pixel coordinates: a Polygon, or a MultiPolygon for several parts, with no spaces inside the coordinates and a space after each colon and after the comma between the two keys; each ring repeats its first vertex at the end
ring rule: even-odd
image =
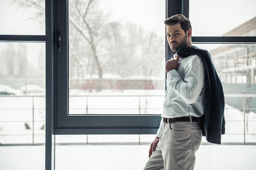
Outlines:
{"type": "Polygon", "coordinates": [[[144,170],[193,170],[201,141],[198,122],[164,123],[157,148],[144,170]]]}

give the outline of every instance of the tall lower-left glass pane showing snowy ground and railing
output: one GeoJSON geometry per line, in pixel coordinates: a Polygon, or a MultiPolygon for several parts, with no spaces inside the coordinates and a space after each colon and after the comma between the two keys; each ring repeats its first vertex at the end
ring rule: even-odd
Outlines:
{"type": "Polygon", "coordinates": [[[0,169],[45,167],[45,43],[0,43],[0,169]]]}

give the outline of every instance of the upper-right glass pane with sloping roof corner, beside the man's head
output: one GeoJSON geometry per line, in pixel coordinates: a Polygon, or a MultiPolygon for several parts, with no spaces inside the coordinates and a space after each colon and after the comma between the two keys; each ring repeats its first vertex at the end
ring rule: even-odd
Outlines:
{"type": "Polygon", "coordinates": [[[193,36],[256,36],[255,7],[255,0],[189,0],[193,36]]]}

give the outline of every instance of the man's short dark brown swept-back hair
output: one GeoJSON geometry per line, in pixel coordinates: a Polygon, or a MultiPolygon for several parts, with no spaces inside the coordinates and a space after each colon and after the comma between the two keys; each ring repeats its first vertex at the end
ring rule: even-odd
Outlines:
{"type": "Polygon", "coordinates": [[[180,23],[180,26],[181,26],[182,30],[184,30],[185,33],[188,30],[192,30],[192,26],[191,26],[191,23],[189,21],[189,18],[186,18],[183,14],[173,15],[171,17],[168,17],[164,21],[165,26],[175,25],[175,24],[178,24],[178,23],[180,23]]]}

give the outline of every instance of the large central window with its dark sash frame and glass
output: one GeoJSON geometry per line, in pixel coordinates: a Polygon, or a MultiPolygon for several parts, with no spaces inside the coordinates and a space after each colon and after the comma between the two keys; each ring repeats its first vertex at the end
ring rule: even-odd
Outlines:
{"type": "Polygon", "coordinates": [[[155,133],[165,88],[165,1],[67,4],[57,4],[54,133],[155,133]]]}

